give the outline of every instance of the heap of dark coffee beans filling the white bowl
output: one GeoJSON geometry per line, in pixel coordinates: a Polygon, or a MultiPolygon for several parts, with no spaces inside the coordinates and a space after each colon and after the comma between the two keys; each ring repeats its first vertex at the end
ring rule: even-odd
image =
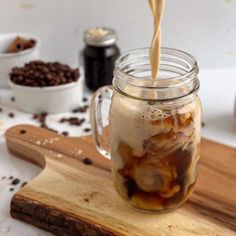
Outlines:
{"type": "Polygon", "coordinates": [[[23,67],[15,67],[10,73],[13,83],[30,87],[48,87],[75,82],[79,69],[72,69],[59,62],[31,61],[23,67]]]}

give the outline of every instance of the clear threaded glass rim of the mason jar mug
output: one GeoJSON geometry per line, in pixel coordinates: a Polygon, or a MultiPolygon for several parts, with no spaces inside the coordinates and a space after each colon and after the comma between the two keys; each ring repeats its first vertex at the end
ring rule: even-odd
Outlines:
{"type": "Polygon", "coordinates": [[[151,79],[149,55],[149,48],[121,55],[115,64],[113,87],[124,95],[142,100],[173,100],[197,93],[199,68],[192,55],[161,48],[158,80],[151,79]]]}

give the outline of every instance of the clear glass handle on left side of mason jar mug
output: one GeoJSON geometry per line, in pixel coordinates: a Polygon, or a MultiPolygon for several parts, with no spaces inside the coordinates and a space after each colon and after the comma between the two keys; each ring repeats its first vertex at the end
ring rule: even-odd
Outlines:
{"type": "Polygon", "coordinates": [[[106,100],[111,102],[112,94],[112,86],[98,89],[92,97],[90,106],[90,122],[97,150],[108,159],[110,159],[109,111],[106,111],[108,114],[105,117],[103,103],[106,100]]]}

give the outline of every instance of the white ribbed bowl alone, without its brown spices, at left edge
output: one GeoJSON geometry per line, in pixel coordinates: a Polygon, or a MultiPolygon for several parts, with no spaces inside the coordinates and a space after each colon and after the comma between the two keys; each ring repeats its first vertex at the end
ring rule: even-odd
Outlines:
{"type": "Polygon", "coordinates": [[[23,33],[0,34],[0,87],[9,87],[9,73],[13,67],[22,67],[25,63],[39,58],[40,40],[38,37],[23,33]],[[17,52],[4,53],[9,44],[17,37],[34,39],[36,44],[33,48],[17,52]]]}

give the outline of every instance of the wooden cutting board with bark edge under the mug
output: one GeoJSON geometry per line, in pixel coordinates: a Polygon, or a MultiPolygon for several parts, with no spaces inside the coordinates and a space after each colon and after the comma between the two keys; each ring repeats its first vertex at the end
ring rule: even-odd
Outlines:
{"type": "Polygon", "coordinates": [[[90,136],[68,138],[28,125],[6,133],[9,151],[43,168],[17,192],[11,215],[55,235],[236,235],[236,149],[203,140],[196,190],[180,209],[147,214],[115,192],[110,161],[90,136]],[[85,157],[92,165],[83,162],[85,157]]]}

